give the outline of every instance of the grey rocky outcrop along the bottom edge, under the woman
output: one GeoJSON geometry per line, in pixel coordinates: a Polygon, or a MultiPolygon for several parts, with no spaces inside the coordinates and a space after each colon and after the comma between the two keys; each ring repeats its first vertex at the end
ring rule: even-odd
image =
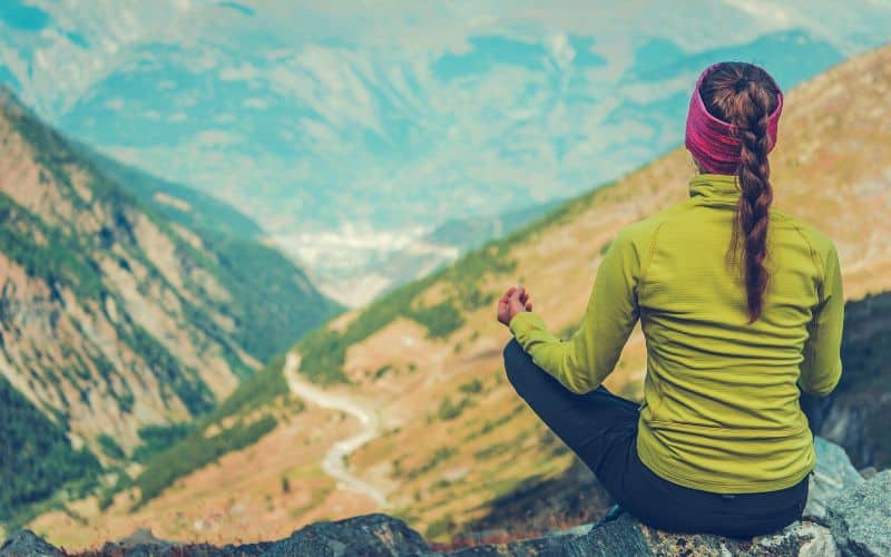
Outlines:
{"type": "MultiPolygon", "coordinates": [[[[247,545],[180,545],[138,531],[86,553],[115,556],[869,556],[891,555],[891,470],[863,480],[844,451],[817,438],[817,466],[804,518],[782,531],[753,539],[679,535],[650,528],[626,512],[535,539],[435,551],[420,534],[388,515],[364,515],[316,522],[288,538],[247,545]]],[[[18,530],[0,547],[0,557],[61,556],[30,530],[18,530]]]]}

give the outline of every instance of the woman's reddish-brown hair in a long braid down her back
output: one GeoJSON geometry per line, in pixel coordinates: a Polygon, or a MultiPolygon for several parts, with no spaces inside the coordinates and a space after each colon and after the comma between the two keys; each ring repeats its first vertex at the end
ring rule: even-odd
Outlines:
{"type": "Polygon", "coordinates": [[[733,125],[741,139],[736,178],[742,195],[736,204],[731,253],[738,261],[741,240],[750,323],[761,316],[767,289],[768,211],[773,202],[771,164],[767,160],[768,117],[777,106],[776,82],[764,69],[746,62],[724,62],[712,71],[699,87],[708,113],[733,125]]]}

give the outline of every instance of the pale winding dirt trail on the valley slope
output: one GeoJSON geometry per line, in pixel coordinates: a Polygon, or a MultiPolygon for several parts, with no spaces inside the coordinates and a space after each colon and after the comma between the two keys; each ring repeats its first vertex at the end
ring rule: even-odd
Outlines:
{"type": "Polygon", "coordinates": [[[300,356],[291,352],[285,360],[284,374],[291,392],[301,399],[322,408],[340,410],[354,417],[362,424],[362,431],[342,439],[331,446],[322,459],[322,470],[334,478],[340,489],[350,489],[371,497],[379,507],[386,507],[383,491],[364,481],[346,469],[346,458],[356,449],[380,437],[381,427],[372,404],[358,401],[353,397],[332,393],[301,378],[297,373],[300,356]]]}

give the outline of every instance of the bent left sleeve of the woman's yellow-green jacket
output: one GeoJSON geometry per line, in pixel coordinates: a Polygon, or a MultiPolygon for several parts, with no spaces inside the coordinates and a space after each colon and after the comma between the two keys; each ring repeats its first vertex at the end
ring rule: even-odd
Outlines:
{"type": "Polygon", "coordinates": [[[597,389],[613,372],[639,316],[640,258],[626,231],[604,255],[581,325],[570,340],[554,336],[533,312],[510,320],[511,333],[532,361],[578,394],[597,389]]]}

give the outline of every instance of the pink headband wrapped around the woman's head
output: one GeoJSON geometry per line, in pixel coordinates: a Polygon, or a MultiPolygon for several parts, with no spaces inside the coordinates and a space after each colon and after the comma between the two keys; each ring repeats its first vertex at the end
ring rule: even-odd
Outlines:
{"type": "MultiPolygon", "coordinates": [[[[699,162],[703,170],[712,174],[736,174],[742,141],[734,133],[732,124],[715,118],[708,113],[699,95],[699,86],[703,85],[703,80],[718,66],[721,63],[707,67],[696,80],[696,88],[689,99],[684,145],[699,162]]],[[[767,124],[768,153],[776,145],[776,127],[780,123],[780,113],[783,111],[783,92],[779,87],[776,89],[776,108],[768,117],[767,124]]]]}

